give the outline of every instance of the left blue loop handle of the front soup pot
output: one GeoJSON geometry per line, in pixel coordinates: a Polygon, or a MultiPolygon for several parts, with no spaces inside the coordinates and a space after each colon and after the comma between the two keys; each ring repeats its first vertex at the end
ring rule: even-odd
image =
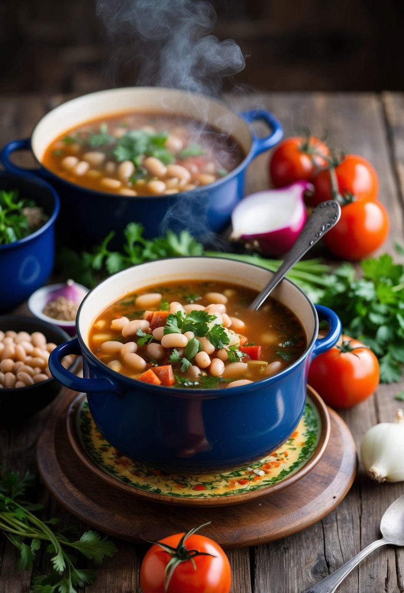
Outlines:
{"type": "Polygon", "coordinates": [[[106,377],[102,379],[83,379],[82,377],[76,377],[68,369],[65,369],[62,366],[62,358],[68,354],[81,356],[81,348],[77,338],[56,346],[49,356],[49,370],[62,385],[73,391],[83,391],[84,393],[91,393],[92,391],[101,393],[109,391],[111,393],[111,391],[115,391],[114,382],[106,377]]]}

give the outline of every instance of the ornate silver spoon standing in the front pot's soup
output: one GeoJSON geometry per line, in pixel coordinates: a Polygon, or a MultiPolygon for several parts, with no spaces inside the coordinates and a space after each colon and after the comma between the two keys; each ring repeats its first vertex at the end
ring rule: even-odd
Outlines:
{"type": "Polygon", "coordinates": [[[268,297],[270,292],[273,291],[284,276],[288,273],[291,267],[296,262],[299,262],[300,258],[309,251],[322,238],[329,229],[334,227],[339,221],[341,216],[341,206],[335,200],[328,200],[328,202],[322,202],[313,210],[309,220],[303,227],[299,237],[297,237],[296,243],[288,251],[283,263],[277,272],[274,273],[271,280],[259,293],[258,297],[252,301],[249,305],[249,309],[256,311],[261,307],[262,303],[268,297]]]}

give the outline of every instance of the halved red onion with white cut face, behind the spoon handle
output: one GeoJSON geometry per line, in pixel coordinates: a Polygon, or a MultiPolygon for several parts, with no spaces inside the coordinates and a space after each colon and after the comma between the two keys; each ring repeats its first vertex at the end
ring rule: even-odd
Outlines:
{"type": "Polygon", "coordinates": [[[306,222],[303,198],[309,190],[308,181],[297,181],[243,198],[232,212],[230,240],[243,241],[268,256],[286,253],[306,222]]]}

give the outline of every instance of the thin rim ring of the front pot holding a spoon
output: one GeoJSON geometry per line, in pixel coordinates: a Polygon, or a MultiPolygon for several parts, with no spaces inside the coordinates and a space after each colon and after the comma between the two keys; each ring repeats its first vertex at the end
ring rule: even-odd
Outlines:
{"type": "MultiPolygon", "coordinates": [[[[318,319],[318,314],[317,314],[315,305],[312,303],[312,301],[310,301],[309,297],[307,297],[307,295],[302,291],[301,288],[299,288],[299,286],[297,286],[294,282],[291,282],[291,280],[289,280],[288,278],[284,278],[283,282],[287,282],[290,285],[292,285],[297,291],[299,291],[299,293],[302,295],[302,297],[304,299],[306,299],[307,303],[309,304],[309,307],[310,307],[310,310],[312,311],[313,319],[314,319],[314,330],[313,330],[313,335],[312,335],[309,343],[307,343],[307,346],[304,349],[304,352],[302,353],[302,355],[300,355],[299,358],[296,361],[294,361],[291,365],[287,366],[286,369],[283,369],[283,371],[278,372],[277,374],[272,375],[271,377],[267,377],[265,379],[260,379],[258,381],[253,381],[252,383],[249,383],[247,385],[239,385],[238,387],[232,387],[231,389],[227,389],[227,387],[220,387],[220,388],[214,388],[214,389],[197,389],[197,388],[192,388],[192,387],[181,388],[181,387],[165,387],[164,385],[156,386],[156,385],[151,385],[144,381],[139,381],[137,379],[127,377],[126,375],[123,375],[122,373],[114,371],[113,369],[109,368],[107,365],[104,365],[104,363],[101,362],[100,359],[98,359],[97,356],[95,356],[95,354],[91,352],[91,350],[89,349],[89,347],[86,343],[86,339],[84,339],[84,337],[81,333],[81,330],[79,328],[79,320],[80,320],[82,308],[85,307],[85,303],[86,303],[87,299],[91,298],[91,294],[94,291],[97,291],[98,289],[100,289],[105,282],[107,282],[114,276],[121,274],[123,272],[127,272],[128,269],[136,269],[139,266],[147,266],[148,264],[157,262],[157,261],[169,262],[171,260],[179,260],[179,259],[186,261],[186,260],[190,260],[190,259],[201,259],[201,258],[209,259],[212,261],[219,261],[219,262],[221,261],[221,262],[225,262],[225,263],[229,262],[229,259],[227,259],[226,257],[209,257],[209,256],[162,257],[159,260],[153,260],[152,262],[145,262],[145,263],[137,264],[136,266],[132,266],[131,268],[127,268],[126,270],[121,270],[120,272],[116,272],[116,273],[112,274],[111,276],[108,276],[108,278],[105,278],[104,280],[102,280],[102,282],[100,282],[100,284],[95,286],[95,288],[91,289],[91,291],[89,291],[85,295],[84,299],[82,300],[82,302],[78,308],[77,315],[76,315],[76,333],[77,333],[77,337],[79,340],[79,345],[82,350],[83,349],[85,350],[86,356],[88,356],[88,358],[91,359],[91,361],[93,363],[95,363],[97,365],[105,366],[105,369],[107,369],[108,373],[111,372],[111,374],[113,374],[114,378],[117,377],[117,379],[119,381],[123,381],[124,383],[127,384],[128,387],[136,387],[136,385],[140,384],[140,386],[142,387],[142,390],[150,391],[150,393],[153,392],[155,394],[161,394],[162,396],[171,395],[174,397],[187,397],[188,394],[190,394],[197,399],[214,398],[214,397],[218,397],[218,396],[225,397],[225,396],[232,396],[232,394],[242,394],[244,392],[250,392],[250,391],[254,391],[256,389],[261,389],[265,385],[268,385],[268,387],[270,387],[270,385],[275,384],[280,380],[283,380],[284,377],[286,377],[288,374],[293,372],[294,369],[297,366],[299,366],[300,364],[302,364],[304,359],[310,355],[310,352],[312,352],[312,349],[315,345],[316,339],[318,338],[319,319],[318,319]]],[[[241,264],[241,266],[251,266],[254,268],[258,268],[259,270],[261,270],[261,272],[262,272],[262,270],[264,270],[264,271],[267,271],[268,273],[272,273],[272,274],[274,273],[271,270],[265,270],[264,268],[262,268],[261,266],[257,266],[256,264],[252,264],[252,263],[248,263],[248,262],[238,262],[238,263],[241,264]]],[[[134,291],[135,290],[136,290],[136,288],[134,288],[134,291]]],[[[100,311],[98,311],[98,313],[100,313],[100,311]]],[[[300,319],[299,319],[299,321],[300,321],[300,319]]],[[[302,323],[302,321],[300,321],[300,323],[302,323]]]]}

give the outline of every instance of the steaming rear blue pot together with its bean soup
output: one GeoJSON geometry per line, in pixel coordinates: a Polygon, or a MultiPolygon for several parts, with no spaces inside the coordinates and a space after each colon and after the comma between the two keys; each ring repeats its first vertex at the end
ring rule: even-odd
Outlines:
{"type": "Polygon", "coordinates": [[[201,94],[158,87],[116,88],[74,98],[47,113],[31,138],[10,142],[11,159],[31,150],[61,201],[59,238],[98,243],[129,221],[145,237],[167,228],[195,237],[226,227],[244,193],[246,168],[277,144],[283,129],[263,109],[235,113],[201,94]],[[268,126],[258,137],[252,123],[268,126]]]}

